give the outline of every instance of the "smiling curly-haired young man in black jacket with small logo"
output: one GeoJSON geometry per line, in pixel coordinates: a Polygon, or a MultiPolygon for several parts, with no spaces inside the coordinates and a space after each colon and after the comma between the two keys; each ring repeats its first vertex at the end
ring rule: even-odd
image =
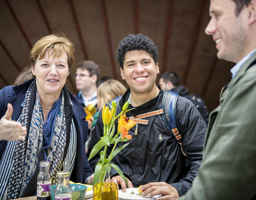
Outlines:
{"type": "MultiPolygon", "coordinates": [[[[129,109],[134,108],[126,113],[126,117],[146,113],[147,116],[129,131],[132,135],[130,144],[114,157],[113,162],[124,172],[129,187],[164,181],[172,189],[172,195],[178,198],[191,187],[201,164],[206,132],[204,119],[192,102],[178,97],[177,103],[172,103],[176,108],[182,145],[167,128],[163,118],[165,110],[160,111],[167,100],[163,101],[164,91],[156,85],[159,73],[157,47],[151,39],[142,34],[124,38],[118,46],[117,60],[121,76],[130,87],[119,100],[120,106],[129,101],[129,109]],[[152,111],[157,114],[148,114],[152,111]]],[[[98,118],[89,154],[102,133],[102,119],[98,118]]],[[[98,161],[99,155],[91,160],[91,165],[95,167],[98,161]]],[[[126,190],[124,180],[113,170],[111,181],[126,190]]]]}

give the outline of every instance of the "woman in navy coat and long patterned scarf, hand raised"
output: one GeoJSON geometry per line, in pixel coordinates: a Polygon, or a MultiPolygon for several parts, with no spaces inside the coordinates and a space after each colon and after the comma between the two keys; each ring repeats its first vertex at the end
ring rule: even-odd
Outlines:
{"type": "Polygon", "coordinates": [[[33,196],[40,161],[50,161],[52,185],[57,172],[93,183],[84,144],[85,111],[65,86],[74,62],[74,45],[65,36],[39,39],[30,52],[35,78],[0,90],[0,199],[33,196]]]}

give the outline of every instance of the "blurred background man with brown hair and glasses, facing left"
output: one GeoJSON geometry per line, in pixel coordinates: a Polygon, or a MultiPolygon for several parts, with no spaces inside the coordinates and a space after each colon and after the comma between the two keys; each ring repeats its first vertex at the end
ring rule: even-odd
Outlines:
{"type": "Polygon", "coordinates": [[[97,81],[100,74],[99,66],[91,61],[84,60],[77,64],[76,89],[79,91],[76,98],[83,107],[89,104],[97,106],[97,81]]]}

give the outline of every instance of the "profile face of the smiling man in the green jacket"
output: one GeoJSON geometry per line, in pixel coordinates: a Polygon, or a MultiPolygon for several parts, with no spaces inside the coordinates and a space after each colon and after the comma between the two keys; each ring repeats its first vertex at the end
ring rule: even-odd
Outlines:
{"type": "Polygon", "coordinates": [[[210,16],[205,33],[212,35],[218,58],[237,63],[247,54],[246,9],[236,16],[236,4],[233,1],[211,0],[210,16]]]}

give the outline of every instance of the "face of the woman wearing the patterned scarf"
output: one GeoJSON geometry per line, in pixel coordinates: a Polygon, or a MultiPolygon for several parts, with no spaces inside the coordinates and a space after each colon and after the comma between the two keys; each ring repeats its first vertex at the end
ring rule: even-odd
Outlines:
{"type": "MultiPolygon", "coordinates": [[[[49,50],[48,50],[49,51],[49,50]]],[[[32,67],[36,76],[36,86],[39,95],[60,95],[69,75],[67,53],[62,53],[59,58],[46,51],[42,60],[36,60],[32,67]]]]}

